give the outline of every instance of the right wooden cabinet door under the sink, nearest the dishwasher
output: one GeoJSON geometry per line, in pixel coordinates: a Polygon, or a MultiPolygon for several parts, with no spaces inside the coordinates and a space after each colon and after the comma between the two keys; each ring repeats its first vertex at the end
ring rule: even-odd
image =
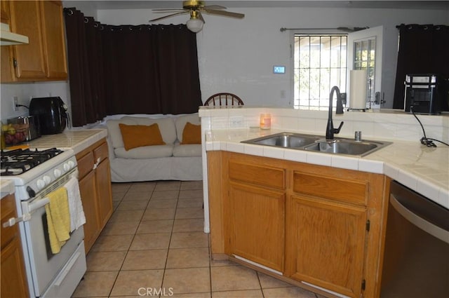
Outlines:
{"type": "Polygon", "coordinates": [[[366,208],[291,196],[286,229],[286,276],[360,297],[366,208]]]}

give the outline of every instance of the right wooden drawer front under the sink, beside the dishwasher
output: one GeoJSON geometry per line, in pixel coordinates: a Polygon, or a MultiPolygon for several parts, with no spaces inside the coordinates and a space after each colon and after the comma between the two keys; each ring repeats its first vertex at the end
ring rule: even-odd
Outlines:
{"type": "Polygon", "coordinates": [[[330,200],[366,205],[368,182],[293,172],[293,191],[330,200]]]}

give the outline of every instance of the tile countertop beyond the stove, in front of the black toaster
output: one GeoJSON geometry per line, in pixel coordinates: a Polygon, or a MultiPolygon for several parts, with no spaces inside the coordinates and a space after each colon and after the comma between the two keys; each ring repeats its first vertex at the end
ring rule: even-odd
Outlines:
{"type": "Polygon", "coordinates": [[[30,148],[72,148],[75,154],[107,137],[106,129],[65,130],[57,135],[43,135],[27,144],[30,148]]]}

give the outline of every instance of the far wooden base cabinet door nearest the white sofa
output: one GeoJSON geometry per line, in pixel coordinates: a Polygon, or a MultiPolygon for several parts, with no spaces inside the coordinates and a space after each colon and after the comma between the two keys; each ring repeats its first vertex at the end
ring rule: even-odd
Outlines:
{"type": "Polygon", "coordinates": [[[102,161],[95,169],[95,180],[98,191],[99,222],[102,229],[112,215],[111,171],[109,158],[102,161]]]}

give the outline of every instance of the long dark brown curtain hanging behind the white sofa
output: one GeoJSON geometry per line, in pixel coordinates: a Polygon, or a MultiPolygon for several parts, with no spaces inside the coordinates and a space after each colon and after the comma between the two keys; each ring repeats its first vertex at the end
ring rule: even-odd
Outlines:
{"type": "Polygon", "coordinates": [[[74,126],[202,105],[196,35],[185,25],[102,25],[75,8],[65,19],[74,126]]]}

